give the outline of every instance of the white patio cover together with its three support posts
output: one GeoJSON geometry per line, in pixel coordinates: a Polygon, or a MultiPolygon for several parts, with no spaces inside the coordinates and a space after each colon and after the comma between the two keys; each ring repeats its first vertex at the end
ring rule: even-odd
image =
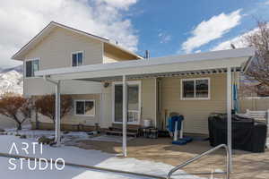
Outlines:
{"type": "Polygon", "coordinates": [[[78,67],[49,69],[36,72],[36,75],[43,76],[45,80],[56,84],[57,143],[60,142],[60,81],[123,81],[123,155],[126,156],[127,79],[227,72],[227,94],[223,95],[227,95],[228,146],[231,153],[231,70],[245,72],[253,58],[255,58],[255,49],[247,47],[191,55],[156,57],[111,64],[91,64],[78,67]]]}

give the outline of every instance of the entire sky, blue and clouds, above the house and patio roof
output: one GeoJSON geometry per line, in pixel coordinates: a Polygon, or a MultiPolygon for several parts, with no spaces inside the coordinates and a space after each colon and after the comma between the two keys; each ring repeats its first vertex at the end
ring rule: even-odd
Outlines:
{"type": "Polygon", "coordinates": [[[236,47],[269,20],[269,0],[8,0],[0,6],[0,68],[50,21],[117,41],[139,55],[178,55],[236,47]]]}

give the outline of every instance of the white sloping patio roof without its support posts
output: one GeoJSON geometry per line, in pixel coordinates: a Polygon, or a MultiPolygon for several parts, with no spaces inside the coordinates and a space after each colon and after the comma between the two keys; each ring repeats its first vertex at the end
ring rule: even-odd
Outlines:
{"type": "Polygon", "coordinates": [[[255,49],[251,47],[230,50],[197,53],[191,55],[175,55],[151,59],[124,61],[110,64],[91,64],[77,68],[57,68],[36,72],[38,76],[50,76],[57,80],[95,79],[103,81],[108,78],[161,76],[162,74],[195,74],[225,72],[227,67],[238,71],[246,70],[247,64],[255,57],[255,49]]]}

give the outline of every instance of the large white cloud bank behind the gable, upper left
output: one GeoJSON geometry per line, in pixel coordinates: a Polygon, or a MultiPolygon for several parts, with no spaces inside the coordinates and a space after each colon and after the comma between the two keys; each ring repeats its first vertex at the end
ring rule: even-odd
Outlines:
{"type": "Polygon", "coordinates": [[[137,50],[138,36],[132,22],[123,16],[136,0],[8,0],[0,6],[0,66],[7,67],[10,57],[42,30],[57,21],[137,50]]]}

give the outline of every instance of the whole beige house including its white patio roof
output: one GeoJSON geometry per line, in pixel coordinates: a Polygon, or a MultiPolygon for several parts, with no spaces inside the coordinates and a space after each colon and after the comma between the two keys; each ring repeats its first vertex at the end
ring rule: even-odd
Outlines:
{"type": "MultiPolygon", "coordinates": [[[[177,112],[185,116],[184,132],[206,134],[211,113],[236,107],[239,72],[254,56],[254,49],[239,48],[143,59],[108,39],[51,22],[13,59],[24,64],[25,97],[56,93],[43,78],[61,81],[60,93],[72,96],[73,110],[61,119],[64,130],[148,120],[166,130],[169,113],[177,112]]],[[[53,128],[48,118],[39,121],[53,128]]]]}

